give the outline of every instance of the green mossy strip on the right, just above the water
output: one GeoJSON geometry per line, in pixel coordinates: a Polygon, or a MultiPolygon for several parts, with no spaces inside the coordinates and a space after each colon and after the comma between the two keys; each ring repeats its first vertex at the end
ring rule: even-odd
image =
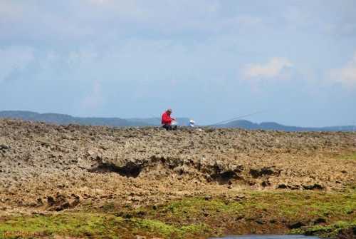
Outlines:
{"type": "Polygon", "coordinates": [[[245,192],[244,199],[235,198],[185,198],[168,205],[161,205],[157,210],[140,208],[146,216],[159,214],[169,220],[184,222],[189,218],[236,217],[239,215],[275,215],[275,217],[299,220],[307,218],[330,219],[350,218],[356,210],[356,190],[344,193],[315,191],[272,191],[245,192]]]}

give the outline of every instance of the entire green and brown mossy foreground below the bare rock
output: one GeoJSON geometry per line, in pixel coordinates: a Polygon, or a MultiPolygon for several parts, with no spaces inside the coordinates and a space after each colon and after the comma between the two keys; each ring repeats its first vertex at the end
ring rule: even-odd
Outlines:
{"type": "Polygon", "coordinates": [[[102,210],[90,213],[93,210],[86,208],[85,213],[0,218],[0,235],[21,231],[83,238],[132,238],[133,235],[204,238],[221,233],[246,233],[246,228],[253,229],[251,233],[266,230],[273,233],[277,229],[281,232],[283,228],[288,233],[288,226],[299,222],[305,226],[291,233],[330,236],[355,227],[356,190],[245,191],[235,197],[183,198],[135,210],[108,203],[102,210]],[[315,223],[318,220],[321,221],[315,223]],[[245,228],[239,228],[241,225],[245,228]]]}

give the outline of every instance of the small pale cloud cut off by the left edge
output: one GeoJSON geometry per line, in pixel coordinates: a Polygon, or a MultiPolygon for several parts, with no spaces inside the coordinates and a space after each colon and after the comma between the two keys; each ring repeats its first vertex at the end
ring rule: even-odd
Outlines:
{"type": "Polygon", "coordinates": [[[28,46],[10,46],[0,49],[0,82],[4,81],[14,71],[21,71],[34,59],[33,49],[28,46]]]}

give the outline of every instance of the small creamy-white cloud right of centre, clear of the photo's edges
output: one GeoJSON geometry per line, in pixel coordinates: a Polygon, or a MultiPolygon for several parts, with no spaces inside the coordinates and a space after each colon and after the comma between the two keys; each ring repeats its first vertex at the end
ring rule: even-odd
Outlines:
{"type": "Polygon", "coordinates": [[[290,68],[293,64],[288,59],[273,57],[265,64],[249,64],[244,68],[244,77],[272,78],[279,76],[284,68],[290,68]]]}

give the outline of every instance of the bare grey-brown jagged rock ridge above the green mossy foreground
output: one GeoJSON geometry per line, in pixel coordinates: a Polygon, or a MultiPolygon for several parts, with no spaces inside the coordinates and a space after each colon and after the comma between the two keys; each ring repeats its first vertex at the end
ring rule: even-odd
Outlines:
{"type": "Polygon", "coordinates": [[[100,197],[148,203],[215,185],[341,189],[355,184],[356,167],[355,161],[340,163],[340,155],[355,152],[355,133],[165,131],[0,120],[0,196],[4,205],[58,210],[100,197]]]}

